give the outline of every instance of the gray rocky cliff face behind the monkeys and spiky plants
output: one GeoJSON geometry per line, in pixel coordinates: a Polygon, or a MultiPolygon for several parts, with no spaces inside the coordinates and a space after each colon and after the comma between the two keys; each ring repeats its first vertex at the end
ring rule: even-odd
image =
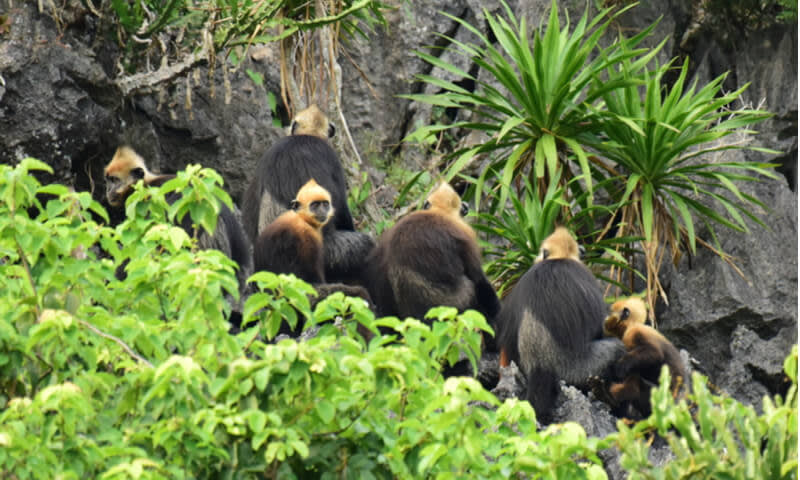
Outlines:
{"type": "MultiPolygon", "coordinates": [[[[342,103],[364,157],[414,166],[425,159],[401,139],[429,122],[432,112],[397,95],[430,88],[416,82],[415,74],[447,74],[432,70],[413,51],[445,47],[439,33],[466,38],[467,32],[438,12],[481,28],[482,6],[490,11],[499,6],[474,0],[397,3],[388,13],[388,29],[351,41],[347,58],[339,59],[342,103]]],[[[550,5],[549,0],[510,3],[532,25],[546,18],[550,5]]],[[[571,18],[585,5],[561,3],[571,18]]],[[[266,101],[268,90],[278,91],[271,47],[251,50],[227,80],[220,69],[211,79],[203,69],[159,91],[122,98],[115,84],[117,51],[109,37],[81,2],[63,5],[56,13],[40,12],[36,2],[0,0],[0,161],[40,158],[55,169],[55,179],[101,199],[103,165],[119,143],[128,142],[156,171],[188,163],[214,167],[238,202],[248,172],[282,134],[266,101]],[[247,69],[263,74],[264,84],[256,85],[247,69]]],[[[689,0],[670,0],[635,8],[615,28],[636,31],[662,15],[652,39],[669,38],[662,61],[690,58],[700,82],[730,71],[726,87],[750,82],[745,101],[763,100],[762,107],[775,113],[760,125],[758,142],[783,152],[767,158],[781,164],[786,178],[745,187],[770,207],[763,213],[769,228],[719,232],[744,278],[700,251],[665,271],[670,303],[660,313],[660,327],[696,359],[695,368],[721,389],[758,405],[762,395],[781,390],[781,362],[797,342],[797,26],[741,26],[698,10],[689,0]]],[[[474,71],[466,59],[436,52],[474,71]]]]}

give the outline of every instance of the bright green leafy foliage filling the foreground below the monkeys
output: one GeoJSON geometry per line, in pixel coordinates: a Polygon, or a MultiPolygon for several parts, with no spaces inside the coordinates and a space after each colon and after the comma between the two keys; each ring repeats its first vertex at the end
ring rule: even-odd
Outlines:
{"type": "Polygon", "coordinates": [[[762,415],[696,376],[695,418],[662,386],[653,417],[618,435],[538,429],[527,402],[442,377],[460,354],[476,360],[476,312],[434,309],[427,326],[341,294],[311,312],[308,285],[262,272],[229,333],[235,265],[171,223],[212,227],[227,201],[215,172],[137,188],[110,228],[88,193],[42,186],[37,170],[49,167],[0,165],[3,478],[605,478],[597,452],[612,445],[640,477],[722,475],[737,454],[755,473],[735,478],[794,475],[796,351],[789,395],[762,415]],[[187,200],[166,203],[170,190],[187,200]],[[269,340],[298,318],[316,336],[269,340]],[[654,429],[680,460],[665,473],[644,463],[654,429]]]}

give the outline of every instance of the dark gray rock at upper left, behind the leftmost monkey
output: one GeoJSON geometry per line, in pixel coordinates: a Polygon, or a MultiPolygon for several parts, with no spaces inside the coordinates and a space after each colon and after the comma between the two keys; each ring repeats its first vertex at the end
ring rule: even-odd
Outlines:
{"type": "MultiPolygon", "coordinates": [[[[0,34],[0,161],[26,156],[44,160],[53,178],[92,190],[102,199],[102,169],[120,143],[129,143],[151,169],[174,172],[189,163],[217,169],[238,200],[258,157],[282,135],[272,126],[266,89],[247,69],[271,72],[264,61],[246,59],[229,73],[230,97],[222,70],[215,70],[214,95],[205,67],[160,92],[121,98],[107,44],[89,26],[91,15],[80,2],[60,11],[56,25],[35,2],[0,0],[0,13],[11,19],[0,34]],[[92,33],[87,33],[92,32],[92,33]]],[[[274,82],[273,82],[274,83],[274,82]]],[[[266,82],[267,88],[274,88],[266,82]]]]}

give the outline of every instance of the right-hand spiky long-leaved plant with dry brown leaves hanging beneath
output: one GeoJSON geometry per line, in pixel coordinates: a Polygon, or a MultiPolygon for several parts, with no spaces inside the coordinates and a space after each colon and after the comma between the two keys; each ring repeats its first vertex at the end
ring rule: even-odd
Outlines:
{"type": "MultiPolygon", "coordinates": [[[[748,227],[744,217],[748,217],[764,226],[752,211],[753,207],[765,211],[766,206],[741,192],[735,182],[755,181],[759,175],[777,178],[770,170],[772,164],[716,161],[710,155],[741,148],[719,141],[769,116],[759,110],[728,110],[747,86],[721,93],[723,74],[699,90],[697,81],[685,88],[687,61],[675,83],[667,87],[662,79],[668,69],[669,65],[646,72],[642,87],[631,85],[606,92],[602,96],[604,110],[597,112],[604,137],[593,143],[612,162],[613,168],[608,170],[614,171],[616,185],[624,186],[609,192],[619,218],[617,235],[644,240],[651,306],[656,295],[666,296],[658,280],[665,252],[672,252],[674,262],[687,246],[695,253],[695,222],[703,222],[712,238],[716,234],[711,222],[745,232],[748,227]]],[[[635,75],[627,62],[619,65],[619,71],[609,72],[612,79],[635,75]]]]}

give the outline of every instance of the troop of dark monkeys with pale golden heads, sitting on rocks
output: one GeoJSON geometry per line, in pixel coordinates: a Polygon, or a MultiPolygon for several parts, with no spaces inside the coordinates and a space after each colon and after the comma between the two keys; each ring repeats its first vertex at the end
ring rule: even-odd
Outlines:
{"type": "MultiPolygon", "coordinates": [[[[663,365],[673,394],[688,387],[677,349],[645,325],[641,299],[620,300],[608,313],[600,284],[563,227],[542,243],[535,264],[502,303],[464,220],[468,206],[446,183],[377,244],[356,232],[344,171],[328,142],[333,133],[317,107],[298,113],[290,134],[261,158],[243,197],[241,223],[223,206],[217,230],[199,236],[202,248],[219,249],[239,264],[241,285],[253,269],[267,270],[293,273],[321,295],[367,298],[379,316],[422,319],[438,305],[475,309],[494,327],[501,366],[515,361],[521,367],[527,398],[545,421],[561,380],[587,388],[590,378],[610,379],[602,383],[603,397],[623,414],[630,407],[649,414],[663,365]]],[[[137,181],[160,185],[172,177],[151,173],[123,146],[105,168],[106,197],[120,206],[137,181]]]]}

